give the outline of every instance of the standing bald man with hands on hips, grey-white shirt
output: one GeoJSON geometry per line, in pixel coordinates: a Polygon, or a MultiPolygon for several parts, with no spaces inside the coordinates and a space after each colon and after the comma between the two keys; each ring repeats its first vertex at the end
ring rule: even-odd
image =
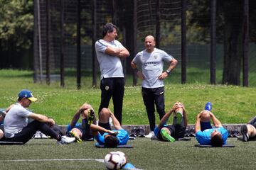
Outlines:
{"type": "Polygon", "coordinates": [[[138,52],[131,62],[132,69],[137,72],[139,79],[142,79],[142,97],[146,106],[146,113],[149,118],[150,130],[146,137],[154,136],[155,108],[159,113],[159,119],[164,117],[164,79],[171,74],[171,71],[178,63],[171,55],[163,50],[157,49],[152,35],[147,35],[144,41],[145,50],[138,52]],[[164,62],[169,63],[168,69],[164,71],[164,62]],[[139,70],[140,69],[140,70],[139,70]],[[164,72],[163,72],[164,71],[164,72]]]}

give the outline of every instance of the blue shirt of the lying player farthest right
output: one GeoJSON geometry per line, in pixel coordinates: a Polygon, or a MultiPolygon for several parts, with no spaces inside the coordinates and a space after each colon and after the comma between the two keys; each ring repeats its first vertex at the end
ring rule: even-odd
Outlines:
{"type": "Polygon", "coordinates": [[[218,132],[221,133],[223,136],[223,145],[226,144],[226,141],[228,139],[228,130],[225,128],[220,127],[220,128],[211,128],[211,129],[206,129],[202,131],[196,132],[196,140],[201,144],[201,145],[211,145],[210,142],[210,134],[214,131],[217,130],[218,132]]]}

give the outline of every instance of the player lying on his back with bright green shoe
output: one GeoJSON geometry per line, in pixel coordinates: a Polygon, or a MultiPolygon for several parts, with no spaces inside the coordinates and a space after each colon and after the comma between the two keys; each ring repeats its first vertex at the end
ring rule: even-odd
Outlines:
{"type": "Polygon", "coordinates": [[[159,140],[174,142],[175,139],[183,138],[185,135],[186,126],[188,125],[188,117],[186,110],[181,102],[174,103],[171,110],[161,118],[159,125],[154,132],[159,140]],[[166,125],[170,115],[174,113],[172,125],[166,125]]]}

